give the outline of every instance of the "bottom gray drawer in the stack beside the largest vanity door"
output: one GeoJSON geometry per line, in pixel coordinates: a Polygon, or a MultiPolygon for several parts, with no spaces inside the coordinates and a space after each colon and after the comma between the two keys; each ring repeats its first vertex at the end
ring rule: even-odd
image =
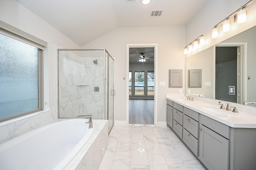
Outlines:
{"type": "Polygon", "coordinates": [[[183,141],[196,156],[198,156],[198,139],[191,135],[186,129],[183,129],[183,141]]]}

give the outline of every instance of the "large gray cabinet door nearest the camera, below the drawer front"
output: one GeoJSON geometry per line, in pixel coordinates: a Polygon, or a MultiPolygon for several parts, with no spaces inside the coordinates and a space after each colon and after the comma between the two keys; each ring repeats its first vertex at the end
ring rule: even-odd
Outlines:
{"type": "Polygon", "coordinates": [[[209,170],[229,170],[230,141],[200,124],[198,158],[209,170]]]}

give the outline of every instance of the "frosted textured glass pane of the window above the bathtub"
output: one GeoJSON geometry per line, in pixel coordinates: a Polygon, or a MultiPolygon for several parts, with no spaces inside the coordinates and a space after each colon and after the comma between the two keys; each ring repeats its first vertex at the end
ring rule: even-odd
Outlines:
{"type": "Polygon", "coordinates": [[[40,109],[40,49],[0,34],[0,119],[40,109]]]}

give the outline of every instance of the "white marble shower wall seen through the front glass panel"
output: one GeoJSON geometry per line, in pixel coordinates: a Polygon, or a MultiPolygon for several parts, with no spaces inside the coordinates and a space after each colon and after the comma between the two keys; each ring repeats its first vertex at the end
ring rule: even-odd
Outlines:
{"type": "Polygon", "coordinates": [[[99,51],[59,51],[59,117],[104,115],[104,56],[99,51]],[[93,61],[97,59],[98,64],[93,61]],[[99,92],[94,91],[99,88],[99,92]]]}

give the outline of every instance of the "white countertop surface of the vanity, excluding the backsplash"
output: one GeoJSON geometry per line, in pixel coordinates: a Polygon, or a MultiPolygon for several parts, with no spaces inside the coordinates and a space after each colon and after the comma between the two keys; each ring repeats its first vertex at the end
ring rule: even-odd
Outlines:
{"type": "Polygon", "coordinates": [[[202,115],[205,115],[207,117],[210,117],[216,121],[219,121],[225,125],[228,125],[230,127],[234,128],[256,128],[256,115],[251,115],[244,112],[234,113],[232,111],[227,111],[225,109],[220,109],[220,105],[213,105],[206,102],[201,101],[190,101],[186,100],[184,98],[169,98],[166,97],[166,99],[171,100],[177,104],[180,104],[182,106],[185,106],[189,109],[192,109],[202,115]],[[220,109],[221,111],[226,111],[227,113],[230,113],[228,115],[222,115],[222,114],[216,114],[211,111],[207,111],[205,109],[202,109],[202,107],[211,107],[220,109]]]}

